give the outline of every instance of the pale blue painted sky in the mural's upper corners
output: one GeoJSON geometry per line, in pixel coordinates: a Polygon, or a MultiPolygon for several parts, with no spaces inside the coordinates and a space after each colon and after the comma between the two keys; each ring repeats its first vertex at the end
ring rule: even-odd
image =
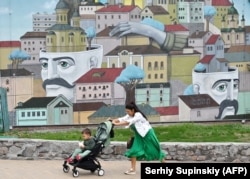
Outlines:
{"type": "MultiPolygon", "coordinates": [[[[58,0],[0,0],[0,40],[20,40],[32,31],[32,14],[53,13],[58,0]]],[[[250,3],[248,0],[234,0],[241,15],[244,11],[246,25],[250,25],[250,3]],[[243,3],[244,2],[244,3],[243,3]]]]}

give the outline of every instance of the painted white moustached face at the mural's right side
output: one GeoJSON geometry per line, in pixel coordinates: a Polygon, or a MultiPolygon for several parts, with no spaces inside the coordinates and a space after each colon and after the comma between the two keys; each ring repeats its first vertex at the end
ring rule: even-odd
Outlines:
{"type": "Polygon", "coordinates": [[[193,86],[199,89],[199,94],[209,94],[220,104],[219,115],[235,115],[238,111],[239,76],[237,68],[227,72],[199,73],[193,71],[193,86]]]}

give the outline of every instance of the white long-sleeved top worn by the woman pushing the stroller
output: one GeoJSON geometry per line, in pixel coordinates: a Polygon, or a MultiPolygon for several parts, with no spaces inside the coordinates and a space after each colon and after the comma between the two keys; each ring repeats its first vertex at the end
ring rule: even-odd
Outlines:
{"type": "Polygon", "coordinates": [[[129,122],[129,125],[127,127],[130,127],[132,124],[135,124],[137,132],[142,137],[144,137],[148,133],[149,129],[152,128],[148,120],[145,119],[145,117],[143,117],[140,112],[136,112],[133,117],[127,114],[124,117],[118,118],[118,120],[129,122]]]}

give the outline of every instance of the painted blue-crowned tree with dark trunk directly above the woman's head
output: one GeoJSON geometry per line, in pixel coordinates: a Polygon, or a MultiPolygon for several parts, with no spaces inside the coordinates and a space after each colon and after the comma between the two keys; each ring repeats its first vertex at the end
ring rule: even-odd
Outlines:
{"type": "Polygon", "coordinates": [[[145,76],[144,71],[135,66],[129,65],[121,74],[115,79],[115,82],[123,86],[126,91],[126,100],[125,104],[130,102],[135,102],[135,87],[136,84],[141,82],[145,76]]]}

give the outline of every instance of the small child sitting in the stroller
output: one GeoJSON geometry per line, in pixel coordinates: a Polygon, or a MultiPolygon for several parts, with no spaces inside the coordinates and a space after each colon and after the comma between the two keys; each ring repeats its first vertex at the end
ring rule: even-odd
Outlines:
{"type": "Polygon", "coordinates": [[[80,160],[88,155],[95,146],[95,139],[91,136],[91,130],[86,128],[82,131],[83,142],[79,142],[79,148],[76,148],[71,157],[67,159],[68,163],[73,163],[74,159],[80,160]]]}

